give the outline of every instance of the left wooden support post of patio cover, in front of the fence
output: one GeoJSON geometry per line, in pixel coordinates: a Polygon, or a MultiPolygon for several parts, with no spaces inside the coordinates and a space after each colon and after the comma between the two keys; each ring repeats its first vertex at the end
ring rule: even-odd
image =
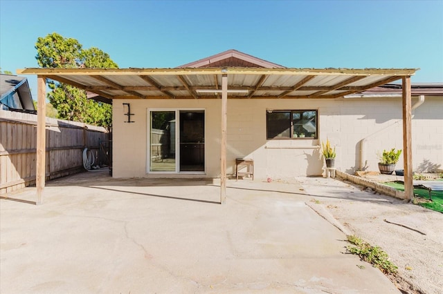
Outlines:
{"type": "Polygon", "coordinates": [[[37,77],[37,205],[43,204],[46,166],[46,77],[37,77]]]}

